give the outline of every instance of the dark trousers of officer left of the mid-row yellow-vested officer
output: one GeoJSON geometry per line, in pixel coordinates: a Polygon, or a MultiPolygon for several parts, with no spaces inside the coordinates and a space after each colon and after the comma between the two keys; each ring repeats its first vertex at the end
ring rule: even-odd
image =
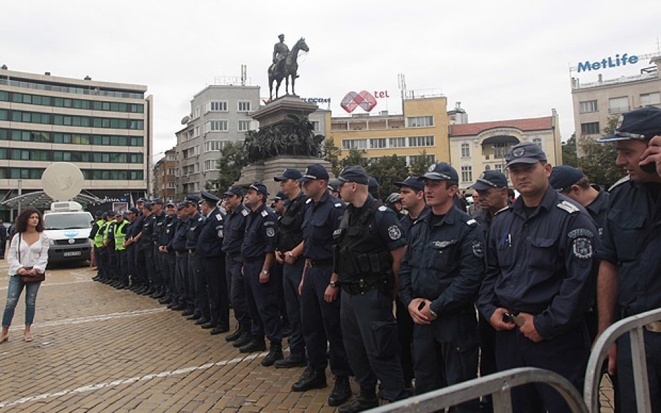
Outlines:
{"type": "Polygon", "coordinates": [[[204,279],[209,287],[207,292],[211,324],[229,328],[229,295],[225,280],[225,255],[204,257],[202,265],[204,265],[204,279]]]}

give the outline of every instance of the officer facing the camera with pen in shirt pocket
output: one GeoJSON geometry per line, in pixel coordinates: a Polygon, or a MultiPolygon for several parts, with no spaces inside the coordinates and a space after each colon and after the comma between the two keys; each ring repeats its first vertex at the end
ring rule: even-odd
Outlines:
{"type": "MultiPolygon", "coordinates": [[[[521,196],[497,213],[487,235],[487,270],[479,308],[496,329],[499,370],[554,371],[580,391],[589,355],[585,311],[594,298],[599,237],[585,209],[554,191],[551,165],[533,142],[505,160],[521,196]]],[[[567,412],[550,387],[512,389],[515,411],[567,412]]]]}

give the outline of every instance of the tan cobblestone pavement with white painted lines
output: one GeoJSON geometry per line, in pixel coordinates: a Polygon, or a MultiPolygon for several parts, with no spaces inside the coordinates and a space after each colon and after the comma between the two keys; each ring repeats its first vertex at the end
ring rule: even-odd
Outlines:
{"type": "MultiPolygon", "coordinates": [[[[1,308],[6,273],[0,261],[1,308]]],[[[335,411],[326,405],[330,372],[327,388],[290,392],[303,368],[264,368],[265,353],[241,354],[224,335],[209,335],[154,299],[92,282],[93,275],[48,271],[31,343],[22,339],[23,293],[0,345],[0,411],[335,411]]]]}

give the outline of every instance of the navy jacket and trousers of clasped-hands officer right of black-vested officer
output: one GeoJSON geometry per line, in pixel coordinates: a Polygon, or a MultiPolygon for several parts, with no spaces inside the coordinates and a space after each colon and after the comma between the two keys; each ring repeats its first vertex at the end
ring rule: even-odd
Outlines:
{"type": "MultiPolygon", "coordinates": [[[[438,315],[413,333],[415,392],[423,394],[477,376],[475,300],[484,273],[484,235],[470,215],[452,207],[442,218],[428,213],[413,224],[399,271],[399,298],[432,302],[438,315]]],[[[469,401],[458,412],[479,410],[469,401]]]]}

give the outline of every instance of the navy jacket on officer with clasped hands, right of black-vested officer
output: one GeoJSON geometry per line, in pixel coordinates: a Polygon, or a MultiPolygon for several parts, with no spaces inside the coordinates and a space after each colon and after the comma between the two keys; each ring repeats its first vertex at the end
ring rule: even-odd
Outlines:
{"type": "Polygon", "coordinates": [[[452,207],[432,225],[432,213],[415,221],[399,269],[399,299],[432,301],[434,313],[474,308],[484,274],[484,235],[470,215],[452,207]]]}

